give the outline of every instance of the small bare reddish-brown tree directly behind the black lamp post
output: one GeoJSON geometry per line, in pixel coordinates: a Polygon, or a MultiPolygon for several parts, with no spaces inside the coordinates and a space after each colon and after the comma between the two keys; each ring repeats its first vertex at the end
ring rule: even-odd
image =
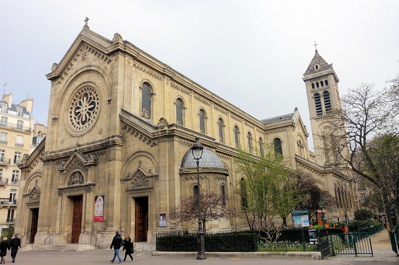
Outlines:
{"type": "MultiPolygon", "coordinates": [[[[207,221],[228,220],[235,216],[234,209],[228,207],[228,200],[227,194],[222,195],[216,191],[201,190],[200,202],[203,231],[206,231],[205,224],[207,221]]],[[[171,211],[169,222],[173,225],[178,225],[182,222],[194,224],[197,221],[198,194],[182,197],[180,204],[171,211]]]]}

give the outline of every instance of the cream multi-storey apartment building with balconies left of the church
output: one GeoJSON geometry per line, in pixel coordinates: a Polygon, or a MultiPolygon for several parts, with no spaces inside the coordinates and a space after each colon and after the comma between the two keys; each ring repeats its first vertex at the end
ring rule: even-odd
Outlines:
{"type": "Polygon", "coordinates": [[[12,103],[12,94],[0,100],[0,227],[15,221],[20,170],[18,164],[32,151],[33,99],[12,103]]]}

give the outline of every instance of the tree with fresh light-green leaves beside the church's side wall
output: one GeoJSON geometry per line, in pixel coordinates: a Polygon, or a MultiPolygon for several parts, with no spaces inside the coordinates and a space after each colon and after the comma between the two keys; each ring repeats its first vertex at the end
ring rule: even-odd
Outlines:
{"type": "Polygon", "coordinates": [[[283,157],[273,147],[251,147],[251,153],[238,148],[233,160],[236,173],[242,176],[236,193],[251,230],[267,229],[276,216],[285,220],[298,204],[295,178],[283,164],[283,157]],[[252,154],[251,154],[252,153],[252,154]]]}

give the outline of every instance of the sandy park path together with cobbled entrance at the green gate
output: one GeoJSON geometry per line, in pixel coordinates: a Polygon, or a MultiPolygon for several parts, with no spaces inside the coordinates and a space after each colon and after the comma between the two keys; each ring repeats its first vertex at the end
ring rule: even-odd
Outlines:
{"type": "Polygon", "coordinates": [[[371,236],[371,245],[373,247],[374,257],[368,254],[355,255],[336,255],[327,258],[329,261],[379,261],[379,262],[398,262],[399,257],[391,249],[391,241],[389,239],[387,229],[378,234],[371,236]]]}

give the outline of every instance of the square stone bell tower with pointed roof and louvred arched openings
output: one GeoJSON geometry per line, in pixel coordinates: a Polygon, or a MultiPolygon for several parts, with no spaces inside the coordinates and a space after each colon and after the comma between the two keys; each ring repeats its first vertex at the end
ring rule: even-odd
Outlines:
{"type": "MultiPolygon", "coordinates": [[[[315,47],[316,47],[315,42],[315,47]]],[[[313,144],[315,147],[316,163],[324,166],[330,164],[326,161],[323,149],[322,132],[326,117],[331,115],[332,109],[341,108],[338,89],[338,76],[334,71],[333,64],[328,64],[320,56],[317,49],[310,62],[302,80],[305,82],[308,98],[310,123],[313,133],[313,144]]]]}

